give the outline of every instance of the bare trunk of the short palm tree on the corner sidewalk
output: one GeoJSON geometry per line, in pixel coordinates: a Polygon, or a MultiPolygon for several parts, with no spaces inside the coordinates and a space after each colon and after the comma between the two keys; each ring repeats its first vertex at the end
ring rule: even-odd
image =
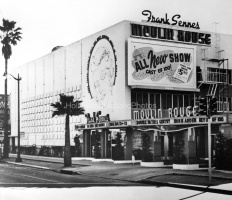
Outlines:
{"type": "Polygon", "coordinates": [[[64,167],[72,166],[71,147],[70,147],[70,131],[69,131],[69,114],[65,119],[65,146],[64,146],[64,167]]]}

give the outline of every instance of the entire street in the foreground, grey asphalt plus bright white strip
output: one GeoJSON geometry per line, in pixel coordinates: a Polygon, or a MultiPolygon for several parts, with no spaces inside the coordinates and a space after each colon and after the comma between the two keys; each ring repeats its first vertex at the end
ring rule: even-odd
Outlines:
{"type": "Polygon", "coordinates": [[[67,175],[8,163],[0,163],[1,200],[229,200],[230,195],[128,181],[67,175]]]}

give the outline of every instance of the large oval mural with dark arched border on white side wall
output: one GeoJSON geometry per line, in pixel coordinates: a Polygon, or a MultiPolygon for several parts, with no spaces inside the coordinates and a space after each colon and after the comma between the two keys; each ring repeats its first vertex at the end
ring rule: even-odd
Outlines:
{"type": "Polygon", "coordinates": [[[92,99],[106,107],[113,95],[117,76],[115,49],[108,36],[97,38],[90,51],[87,68],[88,91],[92,99]]]}

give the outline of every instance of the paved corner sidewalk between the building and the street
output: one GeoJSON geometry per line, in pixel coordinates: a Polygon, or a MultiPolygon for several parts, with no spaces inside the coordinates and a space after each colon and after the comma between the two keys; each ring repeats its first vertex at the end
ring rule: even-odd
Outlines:
{"type": "MultiPolygon", "coordinates": [[[[44,170],[52,170],[60,173],[94,176],[107,179],[126,180],[155,185],[168,185],[189,189],[208,188],[207,170],[173,170],[172,167],[147,168],[139,164],[114,164],[113,162],[96,162],[83,160],[84,158],[72,158],[72,167],[63,167],[63,158],[27,156],[21,155],[22,163],[15,163],[15,154],[2,160],[10,164],[24,165],[44,170]],[[190,188],[192,187],[192,188],[190,188]]],[[[228,191],[232,194],[232,172],[212,171],[211,189],[228,191]]]]}

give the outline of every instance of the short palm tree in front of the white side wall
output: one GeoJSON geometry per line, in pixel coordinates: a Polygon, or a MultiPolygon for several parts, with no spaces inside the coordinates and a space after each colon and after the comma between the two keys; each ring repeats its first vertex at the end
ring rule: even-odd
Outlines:
{"type": "Polygon", "coordinates": [[[82,101],[73,101],[73,96],[66,96],[60,94],[60,102],[52,103],[51,106],[55,108],[52,117],[65,116],[65,147],[64,147],[64,167],[72,165],[71,147],[70,147],[70,130],[69,130],[69,116],[79,116],[84,114],[84,108],[80,107],[82,101]]]}

